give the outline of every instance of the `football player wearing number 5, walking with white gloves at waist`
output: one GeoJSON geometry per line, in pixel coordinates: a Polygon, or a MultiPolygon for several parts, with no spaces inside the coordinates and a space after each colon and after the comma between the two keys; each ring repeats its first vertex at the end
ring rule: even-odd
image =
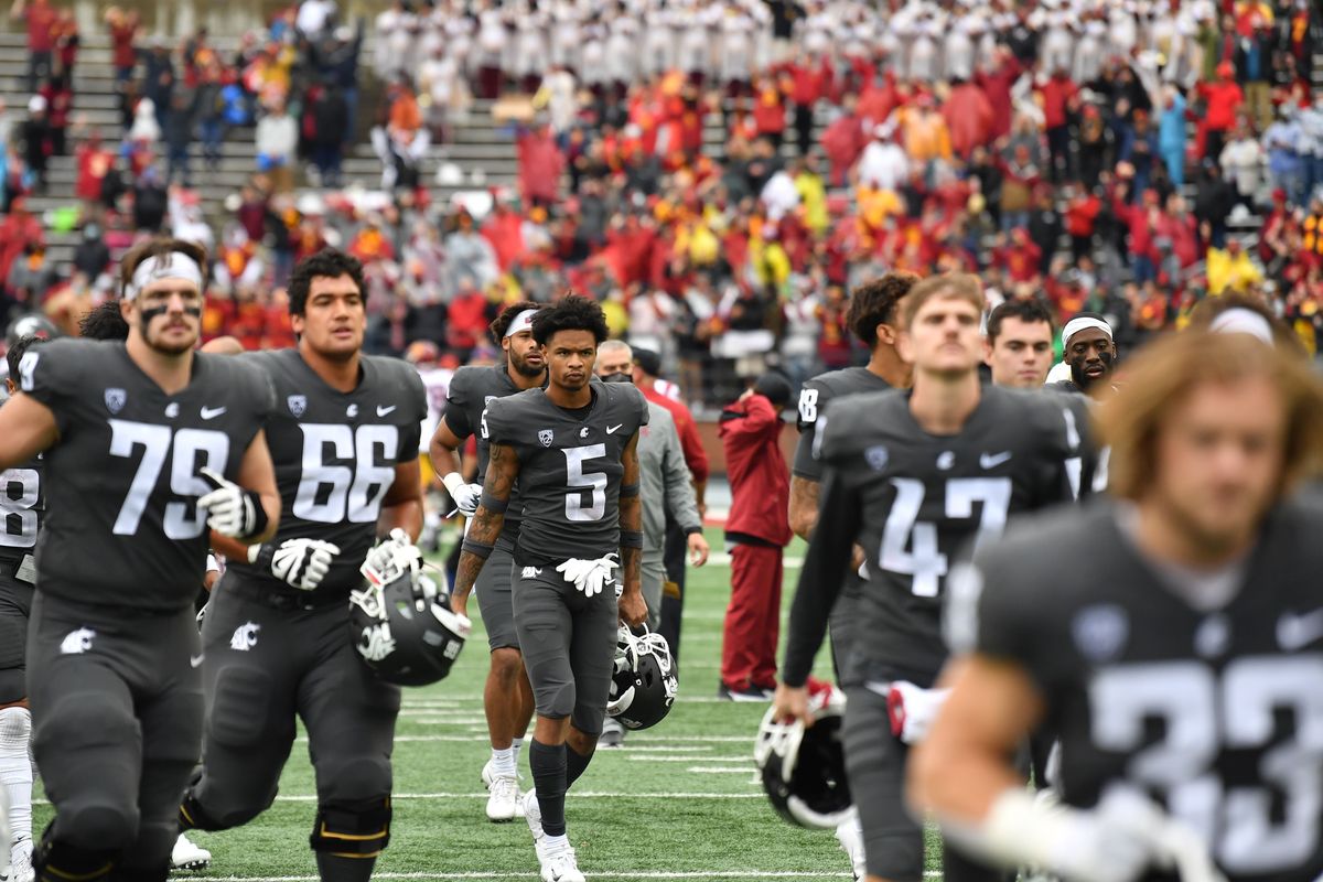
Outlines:
{"type": "Polygon", "coordinates": [[[517,480],[515,628],[537,710],[524,816],[545,882],[583,881],[565,833],[565,791],[602,731],[618,620],[636,627],[647,619],[638,432],[648,410],[635,386],[593,378],[606,337],[602,308],[586,298],[569,295],[533,316],[548,385],[496,398],[482,417],[487,479],[451,598],[464,614],[517,480]]]}

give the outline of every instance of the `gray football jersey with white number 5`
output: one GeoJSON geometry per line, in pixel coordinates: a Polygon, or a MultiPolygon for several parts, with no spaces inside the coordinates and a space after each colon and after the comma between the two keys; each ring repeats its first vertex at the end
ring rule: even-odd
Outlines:
{"type": "Polygon", "coordinates": [[[620,547],[620,454],[647,424],[648,405],[630,383],[594,380],[590,387],[583,414],[557,407],[541,389],[487,405],[480,430],[519,456],[520,563],[599,558],[620,547]]]}

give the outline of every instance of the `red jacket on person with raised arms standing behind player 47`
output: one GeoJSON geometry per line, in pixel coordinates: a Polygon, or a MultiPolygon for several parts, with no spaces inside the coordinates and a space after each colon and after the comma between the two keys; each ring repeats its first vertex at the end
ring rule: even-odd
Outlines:
{"type": "Polygon", "coordinates": [[[726,533],[773,545],[790,542],[790,469],[781,455],[781,414],[753,394],[721,411],[721,444],[730,479],[726,533]]]}

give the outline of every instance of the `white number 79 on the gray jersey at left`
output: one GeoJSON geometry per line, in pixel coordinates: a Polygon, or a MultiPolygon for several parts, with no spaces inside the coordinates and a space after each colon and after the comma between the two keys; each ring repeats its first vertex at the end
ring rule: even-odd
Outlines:
{"type": "Polygon", "coordinates": [[[119,506],[119,516],[115,517],[115,536],[138,533],[138,525],[143,520],[143,512],[147,510],[152,491],[156,489],[156,479],[160,477],[167,458],[171,460],[169,492],[189,501],[167,502],[161,529],[167,538],[172,540],[192,540],[201,536],[206,526],[206,512],[192,502],[212,488],[197,476],[197,472],[202,467],[217,472],[225,471],[225,463],[230,458],[229,435],[205,428],[171,431],[169,426],[126,419],[110,421],[111,456],[131,459],[138,447],[142,447],[143,458],[138,461],[128,495],[119,506]],[[191,508],[192,514],[189,514],[191,508]]]}

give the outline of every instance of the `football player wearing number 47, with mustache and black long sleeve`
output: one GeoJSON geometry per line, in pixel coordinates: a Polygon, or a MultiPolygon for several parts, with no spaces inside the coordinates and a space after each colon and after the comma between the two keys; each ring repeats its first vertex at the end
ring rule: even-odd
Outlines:
{"type": "MultiPolygon", "coordinates": [[[[946,661],[939,606],[962,545],[1009,516],[1072,499],[1077,451],[1058,395],[982,386],[983,290],[968,275],[919,282],[901,301],[897,349],[913,391],[852,395],[818,426],[822,514],[790,615],[775,707],[807,719],[804,681],[857,542],[868,581],[847,659],[845,760],[864,830],[868,878],[918,882],[921,825],[906,812],[909,744],[922,737],[946,661]],[[904,726],[901,726],[904,723],[904,726]]],[[[950,850],[947,878],[983,878],[950,850]]]]}

